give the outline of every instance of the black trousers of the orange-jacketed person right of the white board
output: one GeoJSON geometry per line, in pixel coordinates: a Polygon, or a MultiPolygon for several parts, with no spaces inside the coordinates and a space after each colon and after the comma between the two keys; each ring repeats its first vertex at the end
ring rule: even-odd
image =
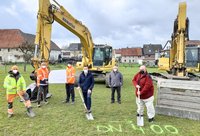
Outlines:
{"type": "Polygon", "coordinates": [[[70,96],[72,98],[72,102],[75,100],[75,93],[74,93],[74,84],[65,84],[66,88],[66,101],[69,102],[70,96]]]}

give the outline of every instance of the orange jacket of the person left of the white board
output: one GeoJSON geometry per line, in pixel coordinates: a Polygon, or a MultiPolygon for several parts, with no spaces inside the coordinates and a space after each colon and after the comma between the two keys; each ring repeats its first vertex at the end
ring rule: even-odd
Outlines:
{"type": "Polygon", "coordinates": [[[37,70],[37,85],[47,85],[44,80],[48,81],[49,70],[47,68],[39,68],[37,70]]]}

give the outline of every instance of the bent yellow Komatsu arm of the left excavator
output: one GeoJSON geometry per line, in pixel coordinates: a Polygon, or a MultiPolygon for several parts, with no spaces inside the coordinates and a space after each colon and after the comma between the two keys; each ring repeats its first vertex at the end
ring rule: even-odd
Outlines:
{"type": "Polygon", "coordinates": [[[34,58],[32,59],[34,68],[37,69],[41,61],[49,62],[51,30],[54,21],[80,38],[83,54],[82,64],[92,67],[94,44],[88,28],[75,19],[63,6],[59,5],[55,0],[53,1],[56,5],[51,4],[49,0],[39,0],[36,46],[34,58]]]}

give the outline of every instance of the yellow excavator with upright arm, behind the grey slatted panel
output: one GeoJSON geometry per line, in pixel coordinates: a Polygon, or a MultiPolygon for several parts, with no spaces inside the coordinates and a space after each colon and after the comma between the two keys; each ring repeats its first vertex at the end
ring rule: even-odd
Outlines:
{"type": "Polygon", "coordinates": [[[171,41],[167,41],[163,47],[164,50],[158,60],[158,68],[173,75],[169,75],[170,78],[189,79],[189,77],[195,77],[194,72],[200,71],[198,53],[200,47],[186,47],[189,40],[189,19],[186,17],[186,3],[180,3],[171,38],[171,41]],[[170,44],[168,46],[170,48],[166,49],[168,44],[170,44]]]}

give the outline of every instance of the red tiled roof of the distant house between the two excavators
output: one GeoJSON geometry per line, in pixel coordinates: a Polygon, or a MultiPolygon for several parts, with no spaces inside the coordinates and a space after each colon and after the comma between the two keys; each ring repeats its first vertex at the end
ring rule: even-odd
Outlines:
{"type": "Polygon", "coordinates": [[[122,56],[142,56],[142,48],[122,48],[122,56]]]}

